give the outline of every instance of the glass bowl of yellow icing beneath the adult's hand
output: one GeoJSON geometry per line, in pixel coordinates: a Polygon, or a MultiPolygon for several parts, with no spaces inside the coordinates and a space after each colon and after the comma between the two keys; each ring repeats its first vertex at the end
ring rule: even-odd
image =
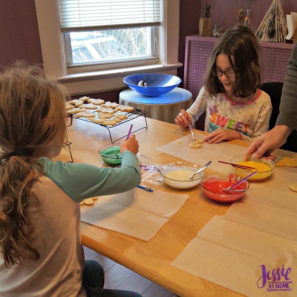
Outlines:
{"type": "Polygon", "coordinates": [[[273,170],[276,167],[276,164],[274,161],[266,158],[254,158],[246,155],[241,155],[234,157],[230,160],[230,163],[237,164],[237,165],[244,165],[249,167],[254,167],[256,169],[241,169],[238,167],[233,166],[233,173],[235,173],[238,176],[246,177],[251,172],[258,171],[257,174],[249,178],[249,181],[261,181],[263,179],[268,178],[271,176],[273,170]]]}

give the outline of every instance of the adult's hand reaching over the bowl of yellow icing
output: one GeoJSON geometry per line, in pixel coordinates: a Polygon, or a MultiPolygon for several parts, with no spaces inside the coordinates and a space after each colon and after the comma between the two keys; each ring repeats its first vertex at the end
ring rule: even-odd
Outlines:
{"type": "MultiPolygon", "coordinates": [[[[277,125],[270,131],[255,138],[247,150],[247,155],[255,153],[256,158],[262,157],[267,151],[273,152],[281,147],[286,141],[292,128],[285,125],[277,125]]],[[[275,159],[275,155],[268,157],[275,159]]]]}

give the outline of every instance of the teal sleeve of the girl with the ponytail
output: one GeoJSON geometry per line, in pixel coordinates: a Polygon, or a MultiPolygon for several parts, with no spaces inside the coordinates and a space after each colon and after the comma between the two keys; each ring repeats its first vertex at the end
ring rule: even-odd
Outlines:
{"type": "Polygon", "coordinates": [[[42,160],[44,175],[76,202],[126,192],[141,181],[139,160],[131,151],[122,154],[121,168],[53,162],[48,158],[42,160]]]}

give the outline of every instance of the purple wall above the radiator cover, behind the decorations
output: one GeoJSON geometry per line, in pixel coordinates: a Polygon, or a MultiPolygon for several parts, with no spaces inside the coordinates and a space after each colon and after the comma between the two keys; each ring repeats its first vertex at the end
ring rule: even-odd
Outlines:
{"type": "MultiPolygon", "coordinates": [[[[203,16],[202,7],[206,4],[211,6],[211,29],[214,28],[215,23],[220,26],[225,26],[225,29],[228,29],[237,23],[237,15],[240,8],[239,2],[249,3],[249,0],[200,0],[199,2],[201,3],[201,10],[199,14],[201,17],[203,16]]],[[[250,5],[250,28],[254,33],[257,31],[271,3],[272,0],[252,0],[250,5]]],[[[291,11],[297,12],[296,0],[281,0],[281,4],[285,15],[290,14],[291,11]]],[[[246,13],[246,9],[244,12],[246,13]]]]}

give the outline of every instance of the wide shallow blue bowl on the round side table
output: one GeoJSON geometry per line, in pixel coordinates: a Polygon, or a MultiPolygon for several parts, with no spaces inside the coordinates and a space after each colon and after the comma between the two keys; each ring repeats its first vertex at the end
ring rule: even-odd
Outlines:
{"type": "Polygon", "coordinates": [[[177,76],[169,74],[142,73],[125,77],[124,83],[129,88],[141,95],[148,97],[158,97],[176,88],[181,83],[181,79],[177,76]],[[144,81],[146,79],[146,75],[148,76],[148,87],[138,86],[140,80],[144,81]]]}

